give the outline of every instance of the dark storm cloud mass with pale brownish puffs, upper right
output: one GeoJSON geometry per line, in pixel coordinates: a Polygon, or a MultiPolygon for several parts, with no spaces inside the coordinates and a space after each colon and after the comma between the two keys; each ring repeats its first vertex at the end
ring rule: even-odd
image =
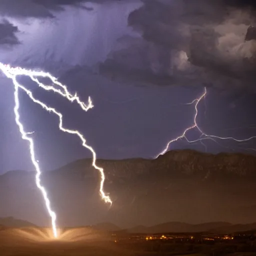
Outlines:
{"type": "Polygon", "coordinates": [[[256,24],[249,3],[144,0],[128,18],[142,38],[122,38],[100,72],[152,84],[249,86],[256,67],[256,40],[244,41],[256,24]]]}

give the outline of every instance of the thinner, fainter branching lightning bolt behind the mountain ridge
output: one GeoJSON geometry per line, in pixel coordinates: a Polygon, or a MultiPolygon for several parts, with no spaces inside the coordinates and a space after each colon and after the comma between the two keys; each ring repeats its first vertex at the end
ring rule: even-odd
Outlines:
{"type": "MultiPolygon", "coordinates": [[[[194,119],[193,119],[193,124],[189,127],[187,127],[186,129],[184,129],[184,131],[181,133],[181,135],[171,139],[170,141],[168,141],[168,143],[166,144],[165,148],[160,152],[158,153],[155,158],[157,158],[159,155],[162,155],[164,153],[166,153],[169,149],[169,146],[171,143],[181,139],[181,138],[185,138],[185,140],[188,142],[188,143],[194,143],[194,142],[197,142],[197,141],[202,141],[204,139],[211,139],[213,140],[214,142],[218,143],[215,139],[231,139],[231,140],[234,140],[234,141],[237,141],[237,142],[244,142],[244,141],[248,141],[250,139],[253,139],[253,138],[256,138],[256,136],[252,136],[252,137],[249,137],[249,138],[245,138],[245,139],[236,139],[236,138],[233,138],[233,137],[220,137],[220,136],[216,136],[216,135],[210,135],[210,134],[206,134],[202,131],[202,129],[199,127],[199,125],[197,124],[196,122],[196,118],[197,118],[197,115],[198,115],[198,104],[200,103],[200,101],[206,96],[207,94],[207,90],[206,90],[206,87],[204,87],[204,90],[203,90],[203,93],[198,97],[198,98],[195,98],[193,99],[191,102],[189,103],[186,103],[186,105],[191,105],[191,104],[194,104],[195,103],[195,114],[194,114],[194,119]],[[195,139],[195,140],[189,140],[187,137],[186,137],[186,132],[191,130],[191,129],[194,129],[196,128],[200,133],[200,137],[198,139],[195,139]]],[[[203,144],[205,146],[205,144],[203,144]]],[[[206,147],[206,146],[205,146],[206,147]]],[[[255,150],[253,148],[248,148],[248,149],[251,149],[251,150],[255,150]]]]}

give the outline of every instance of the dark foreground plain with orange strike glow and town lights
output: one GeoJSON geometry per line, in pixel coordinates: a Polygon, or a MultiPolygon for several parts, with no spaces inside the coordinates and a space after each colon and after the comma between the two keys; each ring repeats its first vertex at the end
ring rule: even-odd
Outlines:
{"type": "Polygon", "coordinates": [[[1,256],[29,255],[256,255],[255,232],[228,235],[204,233],[128,234],[103,232],[90,227],[0,229],[1,256]]]}

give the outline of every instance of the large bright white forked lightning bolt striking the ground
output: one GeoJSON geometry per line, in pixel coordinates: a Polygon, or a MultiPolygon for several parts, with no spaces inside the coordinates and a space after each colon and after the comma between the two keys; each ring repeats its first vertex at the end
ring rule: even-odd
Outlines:
{"type": "Polygon", "coordinates": [[[43,88],[44,90],[49,90],[49,91],[51,90],[55,93],[58,93],[62,97],[65,97],[66,99],[68,99],[70,102],[75,101],[81,107],[81,109],[84,110],[84,111],[87,111],[87,110],[89,110],[90,108],[93,107],[91,98],[89,97],[88,98],[88,103],[85,104],[84,102],[82,102],[79,99],[79,97],[76,95],[76,93],[74,95],[71,94],[67,90],[67,87],[65,85],[60,83],[57,80],[57,78],[55,78],[54,76],[52,76],[50,73],[47,73],[47,72],[28,70],[28,69],[24,69],[24,68],[21,68],[21,67],[11,67],[10,65],[5,65],[1,62],[0,62],[0,70],[2,71],[2,73],[6,77],[10,78],[12,80],[13,84],[14,84],[15,121],[16,121],[16,124],[19,128],[19,132],[22,136],[22,139],[27,140],[29,142],[30,157],[31,157],[31,161],[32,161],[32,163],[35,167],[35,170],[36,170],[35,183],[36,183],[36,186],[40,189],[40,191],[43,195],[43,199],[45,201],[46,209],[48,211],[48,214],[50,215],[53,235],[54,235],[54,237],[57,237],[58,234],[57,234],[57,228],[56,228],[56,213],[51,209],[50,200],[47,196],[47,192],[46,192],[45,188],[40,183],[41,170],[40,170],[38,161],[36,160],[36,157],[35,157],[33,139],[29,136],[33,132],[26,132],[24,130],[22,122],[20,121],[20,115],[19,115],[19,111],[18,111],[19,110],[19,105],[20,105],[19,98],[18,98],[19,90],[24,91],[34,103],[39,104],[43,109],[57,115],[58,120],[59,120],[59,122],[58,122],[59,129],[63,132],[67,132],[67,133],[70,133],[70,134],[75,134],[76,136],[78,136],[80,138],[81,142],[82,142],[82,146],[84,146],[85,148],[87,148],[91,151],[91,153],[92,153],[92,166],[95,169],[97,169],[100,173],[99,193],[101,195],[101,198],[106,203],[110,203],[110,205],[112,204],[112,201],[111,201],[109,195],[107,195],[104,192],[103,185],[104,185],[105,175],[104,175],[103,168],[96,165],[96,153],[93,150],[93,148],[86,144],[85,138],[83,137],[83,135],[78,130],[72,130],[72,129],[64,128],[63,124],[62,124],[63,115],[60,112],[58,112],[55,108],[50,107],[50,106],[46,105],[44,102],[36,99],[29,89],[27,89],[25,86],[23,86],[23,85],[21,85],[17,82],[16,76],[17,75],[23,75],[23,76],[30,77],[39,87],[43,88]],[[39,80],[36,77],[47,77],[51,80],[53,85],[45,85],[45,84],[39,82],[39,80]],[[54,85],[59,86],[61,89],[56,88],[56,86],[54,86],[54,85]]]}

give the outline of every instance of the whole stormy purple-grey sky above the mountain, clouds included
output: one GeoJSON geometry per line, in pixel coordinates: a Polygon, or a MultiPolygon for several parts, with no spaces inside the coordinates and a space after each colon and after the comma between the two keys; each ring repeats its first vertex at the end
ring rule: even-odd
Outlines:
{"type": "MultiPolygon", "coordinates": [[[[200,127],[243,139],[256,135],[256,41],[244,41],[256,23],[254,7],[238,0],[1,0],[0,61],[50,71],[84,101],[91,96],[94,107],[83,112],[19,79],[62,111],[65,126],[81,131],[99,158],[155,157],[193,123],[194,105],[185,103],[204,86],[200,127]]],[[[12,83],[0,76],[0,84],[0,173],[33,170],[14,122],[12,83]]],[[[54,115],[25,94],[20,100],[43,170],[91,157],[78,139],[58,131],[54,115]]],[[[256,139],[217,142],[182,139],[170,149],[255,154],[256,139]]]]}

